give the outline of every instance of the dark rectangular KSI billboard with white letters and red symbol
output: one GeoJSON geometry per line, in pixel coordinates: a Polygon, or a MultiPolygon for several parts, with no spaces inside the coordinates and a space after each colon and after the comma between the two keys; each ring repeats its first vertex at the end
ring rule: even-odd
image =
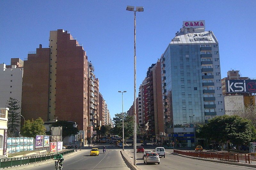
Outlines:
{"type": "Polygon", "coordinates": [[[226,80],[227,93],[255,93],[256,80],[226,80]]]}

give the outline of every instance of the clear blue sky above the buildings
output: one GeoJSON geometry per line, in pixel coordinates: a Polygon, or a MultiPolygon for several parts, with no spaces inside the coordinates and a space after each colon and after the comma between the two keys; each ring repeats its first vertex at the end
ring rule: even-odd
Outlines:
{"type": "MultiPolygon", "coordinates": [[[[0,62],[27,58],[39,44],[49,46],[51,30],[70,31],[87,52],[111,117],[133,102],[133,12],[136,13],[137,89],[182,27],[182,21],[205,20],[205,30],[219,41],[221,78],[227,71],[256,78],[255,0],[247,1],[0,1],[0,62]]],[[[138,90],[137,90],[138,94],[138,90]]]]}

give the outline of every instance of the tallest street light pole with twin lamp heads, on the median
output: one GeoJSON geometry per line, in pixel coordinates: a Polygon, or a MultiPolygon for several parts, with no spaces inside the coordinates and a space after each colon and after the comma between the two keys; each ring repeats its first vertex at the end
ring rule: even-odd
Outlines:
{"type": "Polygon", "coordinates": [[[134,11],[134,108],[133,108],[133,165],[136,166],[136,11],[143,12],[143,6],[137,6],[134,10],[134,6],[127,6],[127,11],[134,11]]]}

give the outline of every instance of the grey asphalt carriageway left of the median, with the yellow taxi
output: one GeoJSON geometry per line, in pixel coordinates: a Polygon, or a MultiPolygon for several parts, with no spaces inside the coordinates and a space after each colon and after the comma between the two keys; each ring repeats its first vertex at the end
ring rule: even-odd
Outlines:
{"type": "MultiPolygon", "coordinates": [[[[101,149],[103,146],[95,146],[95,148],[99,148],[100,150],[99,156],[90,156],[91,149],[82,149],[82,151],[78,151],[76,154],[70,156],[65,155],[62,170],[130,170],[124,163],[120,154],[120,148],[107,144],[105,146],[105,154],[103,154],[101,149]]],[[[55,166],[54,161],[50,160],[46,164],[36,167],[26,167],[26,165],[22,167],[26,170],[53,170],[55,166]]]]}

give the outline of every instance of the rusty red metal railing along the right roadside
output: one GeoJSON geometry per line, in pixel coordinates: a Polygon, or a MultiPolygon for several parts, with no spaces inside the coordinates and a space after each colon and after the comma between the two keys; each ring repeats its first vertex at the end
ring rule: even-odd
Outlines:
{"type": "Polygon", "coordinates": [[[245,163],[251,163],[251,161],[256,161],[256,156],[252,156],[250,153],[219,153],[219,152],[191,152],[191,151],[182,151],[182,150],[173,150],[174,153],[199,157],[199,158],[207,158],[207,159],[218,159],[218,160],[226,160],[226,161],[234,161],[239,162],[240,160],[245,161],[245,163]]]}

